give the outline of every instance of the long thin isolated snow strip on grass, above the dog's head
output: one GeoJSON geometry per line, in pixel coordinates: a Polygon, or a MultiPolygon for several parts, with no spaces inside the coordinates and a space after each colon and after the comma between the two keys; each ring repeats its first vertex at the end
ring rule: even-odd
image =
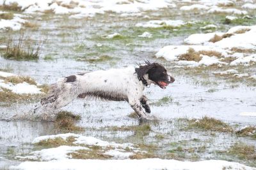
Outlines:
{"type": "Polygon", "coordinates": [[[136,27],[152,27],[152,28],[159,28],[164,26],[169,27],[180,27],[185,25],[186,23],[182,20],[150,20],[146,23],[138,23],[136,27]]]}

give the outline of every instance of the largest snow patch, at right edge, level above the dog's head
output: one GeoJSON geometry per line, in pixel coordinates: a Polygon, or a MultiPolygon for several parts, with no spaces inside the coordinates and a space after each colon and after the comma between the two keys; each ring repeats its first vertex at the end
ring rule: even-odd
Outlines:
{"type": "MultiPolygon", "coordinates": [[[[248,66],[256,62],[256,55],[251,54],[250,51],[256,50],[256,25],[253,26],[243,26],[239,25],[236,27],[230,28],[227,32],[211,32],[211,33],[201,33],[201,34],[191,34],[188,38],[184,39],[184,43],[188,45],[179,45],[179,46],[164,46],[157,53],[156,57],[163,57],[168,61],[177,61],[179,56],[188,52],[189,48],[192,48],[196,52],[198,51],[214,51],[220,52],[221,58],[233,57],[236,60],[228,63],[230,66],[237,66],[243,64],[248,66]],[[215,43],[210,42],[215,35],[223,36],[225,34],[231,34],[230,37],[222,38],[220,41],[215,43]],[[235,49],[235,50],[234,50],[235,49]],[[248,50],[248,52],[239,53],[236,52],[236,49],[248,50]]],[[[215,64],[227,64],[225,62],[217,61],[219,59],[205,58],[207,63],[209,60],[216,62],[215,64]]],[[[203,60],[204,61],[204,60],[203,60]]],[[[179,65],[193,65],[208,66],[204,62],[193,62],[193,61],[179,61],[179,65]]],[[[210,64],[211,65],[211,64],[210,64]]]]}

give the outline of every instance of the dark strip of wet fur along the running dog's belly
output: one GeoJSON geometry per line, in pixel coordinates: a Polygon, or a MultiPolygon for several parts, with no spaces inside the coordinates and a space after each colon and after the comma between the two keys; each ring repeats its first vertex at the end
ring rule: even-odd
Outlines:
{"type": "Polygon", "coordinates": [[[85,97],[96,97],[96,98],[105,99],[108,101],[128,101],[126,96],[124,97],[118,94],[113,95],[112,92],[102,92],[102,91],[85,92],[77,96],[77,98],[85,98],[85,97]]]}

